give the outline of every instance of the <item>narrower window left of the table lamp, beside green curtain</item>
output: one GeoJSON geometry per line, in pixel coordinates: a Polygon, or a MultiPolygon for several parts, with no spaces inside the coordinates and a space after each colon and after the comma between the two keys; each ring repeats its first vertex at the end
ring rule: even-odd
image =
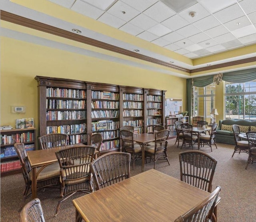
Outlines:
{"type": "Polygon", "coordinates": [[[193,116],[204,116],[209,122],[213,108],[215,108],[215,83],[202,88],[194,86],[193,116]]]}

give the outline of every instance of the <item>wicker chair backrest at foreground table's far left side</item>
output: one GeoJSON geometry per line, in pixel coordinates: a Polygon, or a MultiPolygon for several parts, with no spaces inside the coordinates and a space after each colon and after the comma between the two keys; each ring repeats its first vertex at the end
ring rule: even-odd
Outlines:
{"type": "Polygon", "coordinates": [[[129,178],[130,162],[130,153],[109,152],[90,163],[96,190],[129,178]]]}

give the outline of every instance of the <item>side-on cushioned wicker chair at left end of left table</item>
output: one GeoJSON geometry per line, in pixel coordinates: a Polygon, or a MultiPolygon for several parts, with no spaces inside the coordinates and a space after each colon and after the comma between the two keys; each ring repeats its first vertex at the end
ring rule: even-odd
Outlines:
{"type": "MultiPolygon", "coordinates": [[[[22,175],[25,181],[25,188],[23,191],[23,199],[20,205],[20,210],[24,206],[26,198],[32,195],[31,192],[31,167],[28,162],[28,156],[23,143],[14,144],[14,148],[17,152],[20,164],[22,166],[22,175]]],[[[37,169],[37,190],[41,190],[46,187],[60,187],[60,166],[58,163],[50,164],[37,169]]]]}

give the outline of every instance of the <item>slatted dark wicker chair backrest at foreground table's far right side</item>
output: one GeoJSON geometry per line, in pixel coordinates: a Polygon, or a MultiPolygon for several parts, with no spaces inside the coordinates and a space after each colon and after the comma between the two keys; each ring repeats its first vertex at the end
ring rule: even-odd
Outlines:
{"type": "Polygon", "coordinates": [[[212,179],[217,160],[199,150],[188,150],[179,154],[180,180],[202,190],[212,191],[212,179]]]}

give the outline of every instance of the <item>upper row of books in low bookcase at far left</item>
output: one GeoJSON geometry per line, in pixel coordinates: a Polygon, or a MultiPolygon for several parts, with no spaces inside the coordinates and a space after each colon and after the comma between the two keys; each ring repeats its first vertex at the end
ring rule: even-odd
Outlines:
{"type": "Polygon", "coordinates": [[[11,135],[1,134],[0,141],[1,145],[22,143],[22,142],[33,142],[35,140],[34,132],[23,132],[11,135]]]}

